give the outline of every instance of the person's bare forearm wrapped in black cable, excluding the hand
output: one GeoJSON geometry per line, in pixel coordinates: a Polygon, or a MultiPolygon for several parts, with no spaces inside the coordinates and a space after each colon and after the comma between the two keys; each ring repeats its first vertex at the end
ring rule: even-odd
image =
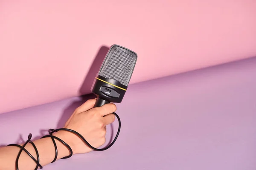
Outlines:
{"type": "MultiPolygon", "coordinates": [[[[69,141],[67,141],[67,137],[70,135],[69,132],[59,131],[54,133],[54,136],[64,140],[69,145],[72,145],[69,141]],[[68,135],[67,135],[68,134],[68,135]]],[[[72,136],[73,137],[73,136],[72,136]]],[[[55,139],[57,148],[58,148],[58,157],[57,159],[61,159],[64,156],[68,156],[70,154],[67,147],[64,146],[61,142],[55,139]]],[[[38,139],[34,141],[36,148],[38,149],[40,164],[42,166],[49,164],[55,157],[55,148],[52,142],[52,139],[47,137],[43,139],[38,139]]],[[[71,146],[70,146],[71,147],[71,146]]],[[[35,158],[37,159],[35,149],[32,144],[28,143],[25,149],[35,158]]],[[[0,148],[0,170],[15,170],[15,160],[17,158],[17,154],[20,148],[15,146],[8,146],[0,148]]],[[[34,170],[36,167],[36,163],[28,156],[24,151],[22,151],[19,161],[18,161],[19,170],[34,170]]]]}

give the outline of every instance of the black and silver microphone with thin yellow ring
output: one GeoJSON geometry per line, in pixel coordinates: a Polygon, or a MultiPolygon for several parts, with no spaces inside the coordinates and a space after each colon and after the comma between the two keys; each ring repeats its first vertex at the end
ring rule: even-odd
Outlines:
{"type": "Polygon", "coordinates": [[[91,88],[97,96],[94,107],[122,102],[136,61],[134,51],[120,45],[110,47],[91,88]]]}

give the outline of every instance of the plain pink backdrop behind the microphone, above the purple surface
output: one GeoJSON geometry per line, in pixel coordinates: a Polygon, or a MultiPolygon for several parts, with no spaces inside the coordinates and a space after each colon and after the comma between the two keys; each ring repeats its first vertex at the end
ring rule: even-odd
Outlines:
{"type": "Polygon", "coordinates": [[[255,9],[255,0],[1,0],[0,113],[90,93],[91,65],[112,44],[138,54],[131,84],[255,56],[255,9]]]}

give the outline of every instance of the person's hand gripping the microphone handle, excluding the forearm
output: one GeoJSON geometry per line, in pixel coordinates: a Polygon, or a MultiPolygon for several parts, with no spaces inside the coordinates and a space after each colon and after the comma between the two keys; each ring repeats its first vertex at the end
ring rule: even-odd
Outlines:
{"type": "MultiPolygon", "coordinates": [[[[115,120],[115,116],[111,113],[116,111],[116,105],[109,103],[101,107],[93,108],[95,102],[96,99],[90,99],[76,108],[74,113],[67,120],[64,128],[75,130],[93,147],[100,147],[106,141],[106,125],[111,124],[115,120]]],[[[73,150],[73,154],[92,151],[92,149],[74,133],[58,131],[53,133],[53,135],[58,136],[69,144],[73,150]]]]}

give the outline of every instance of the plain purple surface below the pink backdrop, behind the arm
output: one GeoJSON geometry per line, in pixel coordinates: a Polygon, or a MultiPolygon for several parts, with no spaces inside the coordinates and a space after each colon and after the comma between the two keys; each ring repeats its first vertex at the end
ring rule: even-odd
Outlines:
{"type": "MultiPolygon", "coordinates": [[[[60,127],[81,102],[1,114],[0,144],[60,127]]],[[[44,169],[256,169],[256,58],[131,85],[117,109],[122,128],[113,147],[44,169]]]]}

